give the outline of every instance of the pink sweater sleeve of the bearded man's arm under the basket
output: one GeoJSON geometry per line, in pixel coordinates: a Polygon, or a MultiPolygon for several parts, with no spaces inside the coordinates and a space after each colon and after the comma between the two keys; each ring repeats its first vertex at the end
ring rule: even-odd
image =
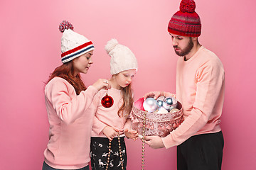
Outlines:
{"type": "Polygon", "coordinates": [[[166,148],[180,145],[201,130],[213,115],[224,84],[224,69],[219,62],[205,63],[196,73],[196,96],[190,115],[166,137],[162,137],[166,148]]]}

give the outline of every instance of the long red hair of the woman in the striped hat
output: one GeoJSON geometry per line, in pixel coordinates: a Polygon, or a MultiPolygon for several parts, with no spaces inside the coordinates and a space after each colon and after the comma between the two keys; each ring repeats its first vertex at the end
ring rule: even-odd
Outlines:
{"type": "Polygon", "coordinates": [[[55,68],[53,73],[50,74],[48,82],[54,77],[61,77],[68,81],[75,88],[75,92],[77,95],[80,94],[81,91],[86,90],[86,86],[82,82],[80,74],[78,73],[78,75],[74,76],[74,67],[72,61],[66,62],[55,68]]]}

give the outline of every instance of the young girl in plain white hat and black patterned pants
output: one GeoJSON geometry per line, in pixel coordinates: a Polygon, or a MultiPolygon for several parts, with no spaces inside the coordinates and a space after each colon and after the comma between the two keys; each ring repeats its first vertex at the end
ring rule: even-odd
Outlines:
{"type": "MultiPolygon", "coordinates": [[[[92,125],[91,165],[92,170],[126,169],[127,154],[124,133],[137,140],[138,133],[130,130],[129,113],[132,110],[132,77],[137,72],[137,60],[131,50],[119,45],[117,40],[107,42],[105,50],[110,55],[109,84],[112,89],[101,90],[92,102],[95,118],[92,125]],[[112,106],[102,103],[102,98],[112,97],[112,106]]],[[[109,100],[111,101],[111,99],[109,100]]]]}

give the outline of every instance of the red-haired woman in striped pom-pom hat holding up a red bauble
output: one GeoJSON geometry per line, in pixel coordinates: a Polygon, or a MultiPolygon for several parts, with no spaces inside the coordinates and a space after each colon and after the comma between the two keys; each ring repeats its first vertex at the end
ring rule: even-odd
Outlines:
{"type": "Polygon", "coordinates": [[[75,33],[68,21],[60,23],[61,60],[45,89],[46,109],[50,124],[49,142],[44,152],[43,170],[89,170],[90,133],[93,113],[85,111],[100,89],[110,89],[106,79],[98,79],[85,87],[80,73],[87,73],[94,46],[84,36],[75,33]]]}

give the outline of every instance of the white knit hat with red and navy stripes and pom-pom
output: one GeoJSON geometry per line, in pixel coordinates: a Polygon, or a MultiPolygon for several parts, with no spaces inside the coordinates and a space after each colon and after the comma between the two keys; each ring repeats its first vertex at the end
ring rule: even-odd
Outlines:
{"type": "Polygon", "coordinates": [[[92,42],[85,36],[75,33],[73,26],[68,21],[60,23],[59,30],[63,33],[61,38],[61,62],[66,63],[80,55],[95,49],[92,42]]]}

